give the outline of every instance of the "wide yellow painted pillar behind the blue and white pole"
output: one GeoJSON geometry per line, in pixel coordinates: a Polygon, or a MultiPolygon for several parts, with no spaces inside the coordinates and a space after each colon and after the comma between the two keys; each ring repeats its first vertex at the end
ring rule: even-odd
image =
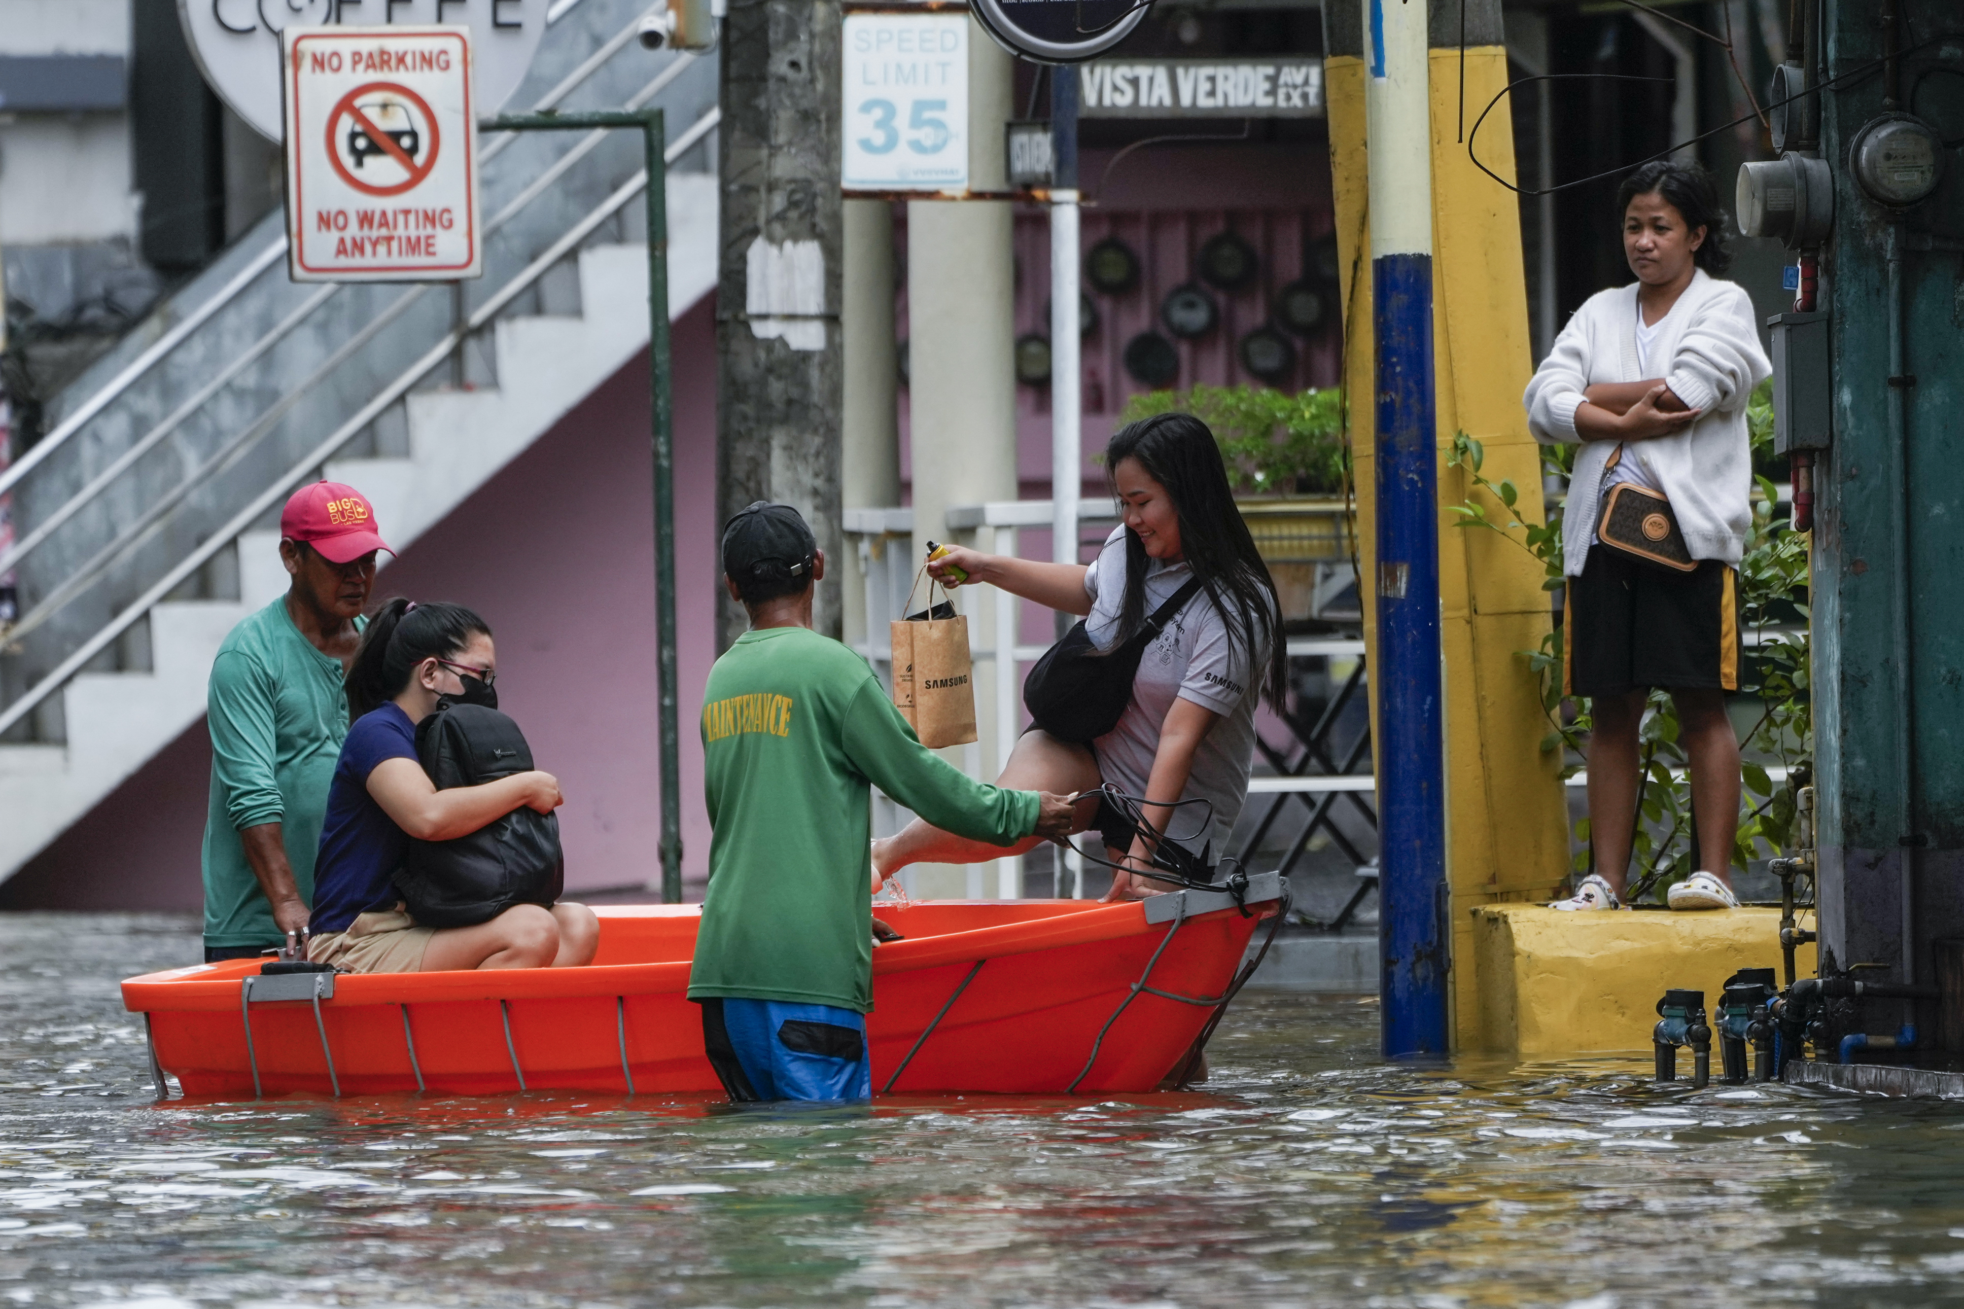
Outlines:
{"type": "MultiPolygon", "coordinates": [[[[1337,257],[1343,290],[1343,387],[1357,483],[1357,538],[1363,577],[1377,575],[1371,430],[1371,222],[1367,212],[1365,65],[1361,8],[1324,6],[1324,88],[1330,112],[1330,171],[1336,190],[1337,257]]],[[[1542,752],[1550,724],[1526,652],[1550,628],[1542,565],[1522,546],[1485,528],[1463,528],[1449,506],[1471,493],[1463,469],[1446,467],[1453,434],[1485,445],[1483,473],[1520,489],[1518,512],[1540,522],[1540,451],[1528,434],[1520,393],[1534,373],[1528,298],[1514,192],[1483,175],[1459,135],[1459,6],[1434,2],[1432,37],[1432,271],[1434,349],[1440,422],[1440,602],[1446,657],[1446,822],[1453,922],[1453,1032],[1457,1048],[1479,1048],[1473,911],[1500,901],[1548,899],[1567,875],[1567,811],[1561,759],[1542,752]],[[1442,22],[1444,8],[1451,10],[1442,22]],[[1455,39],[1455,37],[1453,37],[1455,39]]],[[[1465,51],[1467,124],[1506,84],[1506,49],[1493,0],[1471,0],[1465,51]]],[[[1512,124],[1504,106],[1479,133],[1481,161],[1514,175],[1512,124]]],[[[1483,493],[1481,493],[1483,495],[1483,493]]],[[[1489,500],[1489,514],[1500,506],[1489,500]]],[[[1375,657],[1371,587],[1361,587],[1365,646],[1375,657]]],[[[1377,714],[1377,681],[1371,683],[1377,714]]]]}

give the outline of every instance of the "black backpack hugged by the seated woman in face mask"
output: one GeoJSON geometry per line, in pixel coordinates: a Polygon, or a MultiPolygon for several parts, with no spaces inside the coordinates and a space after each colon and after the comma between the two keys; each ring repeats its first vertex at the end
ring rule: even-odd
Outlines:
{"type": "MultiPolygon", "coordinates": [[[[416,758],[438,791],[532,769],[532,748],[509,716],[438,703],[416,724],[416,758]]],[[[518,807],[469,836],[412,840],[395,889],[418,926],[475,926],[513,905],[552,907],[566,887],[560,818],[518,807]]]]}

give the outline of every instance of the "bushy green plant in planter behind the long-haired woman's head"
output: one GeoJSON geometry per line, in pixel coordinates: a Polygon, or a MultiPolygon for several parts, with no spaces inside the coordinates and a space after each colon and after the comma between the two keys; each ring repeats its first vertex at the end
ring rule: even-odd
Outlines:
{"type": "Polygon", "coordinates": [[[1337,387],[1300,394],[1204,385],[1143,391],[1125,402],[1119,422],[1173,410],[1214,428],[1235,491],[1243,495],[1337,495],[1343,489],[1343,393],[1337,387]]]}

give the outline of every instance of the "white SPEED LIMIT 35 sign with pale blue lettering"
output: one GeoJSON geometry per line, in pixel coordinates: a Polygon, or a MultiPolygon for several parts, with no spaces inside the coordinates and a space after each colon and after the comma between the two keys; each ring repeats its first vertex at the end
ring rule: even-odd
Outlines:
{"type": "Polygon", "coordinates": [[[846,14],[846,190],[968,188],[968,16],[846,14]]]}

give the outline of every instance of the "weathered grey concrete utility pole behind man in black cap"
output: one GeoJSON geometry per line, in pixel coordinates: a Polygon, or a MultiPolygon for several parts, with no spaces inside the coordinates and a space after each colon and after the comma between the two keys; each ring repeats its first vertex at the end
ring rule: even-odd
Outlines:
{"type": "MultiPolygon", "coordinates": [[[[839,557],[839,0],[729,0],[717,130],[717,522],[795,504],[839,557]]],[[[815,626],[839,636],[843,587],[815,626]]],[[[744,630],[717,585],[717,648],[744,630]]]]}

